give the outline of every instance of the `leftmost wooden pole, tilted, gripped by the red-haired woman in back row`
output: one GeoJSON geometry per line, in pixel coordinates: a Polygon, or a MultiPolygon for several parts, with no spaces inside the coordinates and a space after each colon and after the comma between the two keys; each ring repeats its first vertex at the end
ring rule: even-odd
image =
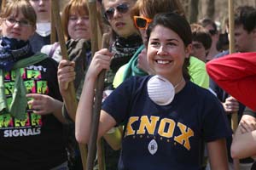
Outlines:
{"type": "MultiPolygon", "coordinates": [[[[53,18],[55,20],[55,28],[56,28],[57,34],[58,34],[58,40],[59,40],[60,46],[61,46],[62,59],[68,59],[67,47],[66,47],[66,43],[65,43],[65,39],[64,39],[63,27],[61,24],[60,8],[59,8],[58,1],[51,0],[51,7],[52,7],[52,11],[53,11],[53,16],[54,16],[53,18]]],[[[75,89],[74,89],[73,83],[69,84],[67,93],[68,93],[69,98],[67,98],[65,105],[67,106],[67,108],[77,108],[78,102],[76,100],[75,89]],[[74,107],[74,105],[75,105],[75,107],[74,107]]],[[[74,113],[75,112],[76,111],[74,111],[74,113]]],[[[75,114],[69,115],[69,116],[71,116],[73,121],[75,121],[75,114]]],[[[79,144],[79,150],[80,150],[80,154],[81,154],[83,167],[85,169],[86,159],[87,159],[87,157],[86,157],[87,149],[86,149],[85,145],[79,144]]]]}

